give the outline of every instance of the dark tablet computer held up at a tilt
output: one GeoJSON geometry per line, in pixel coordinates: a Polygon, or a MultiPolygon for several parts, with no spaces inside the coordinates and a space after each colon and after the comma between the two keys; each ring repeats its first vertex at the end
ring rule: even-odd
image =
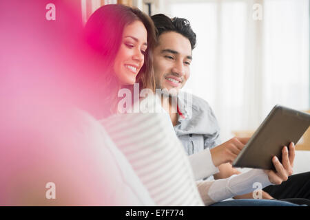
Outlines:
{"type": "Polygon", "coordinates": [[[296,144],[309,128],[310,114],[276,105],[242,148],[232,166],[275,169],[271,158],[282,159],[283,146],[296,144]]]}

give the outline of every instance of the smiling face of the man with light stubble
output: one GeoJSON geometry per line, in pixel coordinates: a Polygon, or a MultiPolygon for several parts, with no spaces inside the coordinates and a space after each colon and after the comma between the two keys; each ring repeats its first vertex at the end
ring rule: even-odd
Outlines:
{"type": "Polygon", "coordinates": [[[176,32],[165,32],[154,50],[154,74],[157,89],[178,93],[189,78],[192,47],[189,39],[176,32]]]}

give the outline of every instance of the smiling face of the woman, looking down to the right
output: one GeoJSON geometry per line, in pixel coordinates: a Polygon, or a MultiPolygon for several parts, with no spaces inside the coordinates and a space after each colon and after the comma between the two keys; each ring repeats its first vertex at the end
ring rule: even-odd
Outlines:
{"type": "Polygon", "coordinates": [[[133,85],[144,63],[147,30],[141,21],[125,26],[121,46],[114,61],[114,72],[121,85],[133,85]]]}

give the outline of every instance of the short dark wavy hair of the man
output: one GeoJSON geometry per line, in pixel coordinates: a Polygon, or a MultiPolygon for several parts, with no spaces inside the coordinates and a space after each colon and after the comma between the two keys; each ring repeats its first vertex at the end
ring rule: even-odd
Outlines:
{"type": "Polygon", "coordinates": [[[182,34],[191,43],[192,50],[196,47],[196,34],[191,28],[191,25],[187,19],[181,19],[174,17],[170,19],[165,14],[155,14],[151,17],[155,27],[157,28],[157,38],[165,32],[177,32],[182,34]]]}

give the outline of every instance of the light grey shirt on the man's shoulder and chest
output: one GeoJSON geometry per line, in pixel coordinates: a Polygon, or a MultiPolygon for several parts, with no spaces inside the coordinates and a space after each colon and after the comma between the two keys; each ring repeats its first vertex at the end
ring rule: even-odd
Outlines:
{"type": "Polygon", "coordinates": [[[174,131],[187,155],[221,144],[220,127],[209,104],[183,91],[178,94],[178,124],[174,131]]]}

